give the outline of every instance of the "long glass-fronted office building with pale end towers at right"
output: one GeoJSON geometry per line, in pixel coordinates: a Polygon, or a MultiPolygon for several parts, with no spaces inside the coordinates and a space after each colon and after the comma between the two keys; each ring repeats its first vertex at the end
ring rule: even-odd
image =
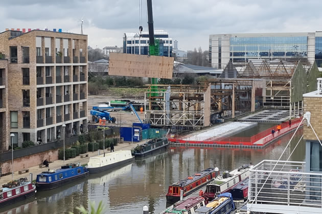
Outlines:
{"type": "Polygon", "coordinates": [[[224,68],[229,60],[243,64],[252,59],[316,60],[322,66],[322,32],[210,35],[209,58],[214,68],[224,68]]]}

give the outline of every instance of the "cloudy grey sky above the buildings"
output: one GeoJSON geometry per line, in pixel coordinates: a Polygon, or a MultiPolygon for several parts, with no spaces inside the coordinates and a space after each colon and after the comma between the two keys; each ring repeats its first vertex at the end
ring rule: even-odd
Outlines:
{"type": "MultiPolygon", "coordinates": [[[[93,48],[122,46],[123,33],[138,32],[140,3],[147,31],[146,0],[2,0],[0,31],[61,28],[88,35],[93,48]]],[[[154,30],[164,30],[179,49],[209,47],[209,35],[221,33],[315,32],[322,30],[316,0],[152,0],[154,30]]]]}

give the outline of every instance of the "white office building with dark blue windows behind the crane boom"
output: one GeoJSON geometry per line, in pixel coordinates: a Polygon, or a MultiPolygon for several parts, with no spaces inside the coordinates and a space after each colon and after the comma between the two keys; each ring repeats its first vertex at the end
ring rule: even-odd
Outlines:
{"type": "MultiPolygon", "coordinates": [[[[159,39],[159,56],[172,57],[172,38],[168,32],[154,31],[154,38],[159,39]]],[[[148,55],[149,32],[125,33],[123,36],[123,53],[148,55]]]]}

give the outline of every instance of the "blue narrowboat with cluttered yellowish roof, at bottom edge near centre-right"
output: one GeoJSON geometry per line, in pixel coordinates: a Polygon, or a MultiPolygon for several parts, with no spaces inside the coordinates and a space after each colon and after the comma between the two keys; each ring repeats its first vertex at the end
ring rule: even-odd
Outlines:
{"type": "Polygon", "coordinates": [[[228,214],[235,210],[235,203],[233,201],[232,194],[223,193],[220,194],[213,201],[207,205],[198,208],[196,214],[228,214]]]}

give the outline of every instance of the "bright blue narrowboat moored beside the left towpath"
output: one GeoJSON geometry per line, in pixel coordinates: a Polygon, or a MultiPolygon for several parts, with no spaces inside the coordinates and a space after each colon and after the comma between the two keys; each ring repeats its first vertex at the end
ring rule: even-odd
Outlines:
{"type": "Polygon", "coordinates": [[[61,169],[48,170],[38,174],[36,187],[39,191],[52,190],[88,175],[86,167],[82,167],[80,164],[66,164],[61,169]]]}

